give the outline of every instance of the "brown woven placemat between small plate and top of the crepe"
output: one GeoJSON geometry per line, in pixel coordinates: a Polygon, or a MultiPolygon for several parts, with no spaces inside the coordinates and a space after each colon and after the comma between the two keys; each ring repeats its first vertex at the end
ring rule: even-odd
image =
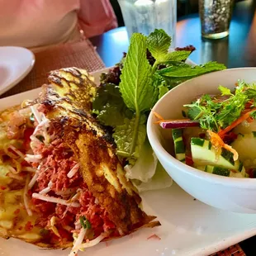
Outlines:
{"type": "Polygon", "coordinates": [[[89,40],[74,44],[57,45],[40,51],[35,56],[36,63],[31,73],[14,88],[2,94],[0,98],[40,87],[47,82],[47,76],[51,70],[77,67],[92,72],[105,67],[89,40]]]}

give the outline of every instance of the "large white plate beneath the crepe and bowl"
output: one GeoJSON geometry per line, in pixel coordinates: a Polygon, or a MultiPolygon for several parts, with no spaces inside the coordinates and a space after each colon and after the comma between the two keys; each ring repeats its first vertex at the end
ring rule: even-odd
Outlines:
{"type": "MultiPolygon", "coordinates": [[[[92,73],[99,81],[102,71],[92,73]]],[[[0,111],[38,96],[40,88],[0,99],[0,111]]],[[[237,214],[207,206],[173,183],[172,187],[143,192],[143,209],[158,216],[161,226],[79,252],[78,256],[206,256],[256,235],[256,215],[237,214]],[[159,239],[148,239],[150,235],[159,239]]],[[[17,239],[0,239],[1,256],[68,256],[66,250],[39,249],[17,239]]]]}

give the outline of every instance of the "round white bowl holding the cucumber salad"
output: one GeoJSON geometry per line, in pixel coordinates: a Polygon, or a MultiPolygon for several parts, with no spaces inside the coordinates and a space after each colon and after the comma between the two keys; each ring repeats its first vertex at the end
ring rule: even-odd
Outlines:
{"type": "MultiPolygon", "coordinates": [[[[256,68],[226,69],[193,78],[173,88],[154,106],[165,119],[182,117],[183,104],[203,93],[218,93],[221,84],[235,88],[237,80],[256,82],[256,68]]],[[[205,173],[179,162],[168,152],[173,145],[170,130],[155,125],[152,111],[147,123],[149,142],[167,173],[187,193],[210,206],[226,211],[256,213],[256,178],[228,178],[205,173]]],[[[167,202],[168,203],[168,202],[167,202]]]]}

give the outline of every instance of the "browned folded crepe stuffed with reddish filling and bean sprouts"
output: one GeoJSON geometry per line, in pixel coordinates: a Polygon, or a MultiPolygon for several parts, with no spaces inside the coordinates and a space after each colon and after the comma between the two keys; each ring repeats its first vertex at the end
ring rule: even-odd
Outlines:
{"type": "Polygon", "coordinates": [[[160,225],[90,114],[96,92],[85,70],[59,69],[36,100],[0,113],[0,236],[76,255],[160,225]]]}

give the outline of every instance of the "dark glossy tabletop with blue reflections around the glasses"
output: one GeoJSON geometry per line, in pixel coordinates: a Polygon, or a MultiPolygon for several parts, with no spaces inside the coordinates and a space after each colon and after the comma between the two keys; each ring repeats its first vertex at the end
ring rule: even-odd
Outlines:
{"type": "MultiPolygon", "coordinates": [[[[224,63],[228,68],[256,66],[256,1],[244,0],[235,4],[230,36],[221,40],[201,38],[198,14],[182,17],[177,23],[176,46],[194,45],[197,50],[190,59],[197,64],[210,60],[224,63]]],[[[122,52],[128,50],[129,39],[125,27],[108,31],[91,39],[104,64],[118,63],[122,52]]],[[[256,256],[256,236],[240,243],[247,256],[256,256]]]]}

